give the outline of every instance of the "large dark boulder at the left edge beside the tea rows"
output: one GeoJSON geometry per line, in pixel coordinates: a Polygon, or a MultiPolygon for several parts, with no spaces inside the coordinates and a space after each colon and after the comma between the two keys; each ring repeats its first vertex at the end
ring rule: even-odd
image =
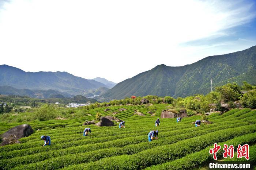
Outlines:
{"type": "Polygon", "coordinates": [[[15,126],[0,136],[2,138],[0,145],[20,143],[18,139],[30,136],[33,132],[34,130],[29,124],[15,126]]]}

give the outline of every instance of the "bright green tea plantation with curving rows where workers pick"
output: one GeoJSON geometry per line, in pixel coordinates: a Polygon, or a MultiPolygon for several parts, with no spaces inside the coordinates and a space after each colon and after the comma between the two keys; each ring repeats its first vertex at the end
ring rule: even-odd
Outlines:
{"type": "MultiPolygon", "coordinates": [[[[177,123],[174,119],[161,119],[161,111],[168,104],[154,104],[156,116],[147,113],[145,105],[127,105],[90,110],[91,116],[73,120],[52,120],[29,123],[35,131],[21,138],[19,144],[0,147],[1,169],[192,169],[205,166],[213,160],[209,149],[214,143],[236,148],[249,144],[249,156],[256,161],[256,110],[232,109],[222,115],[212,113],[208,120],[195,127],[191,122],[202,116],[191,116],[177,123]],[[118,111],[125,108],[125,111],[118,111]],[[146,116],[133,115],[135,109],[146,116]],[[96,113],[115,116],[125,121],[125,127],[82,126],[86,120],[94,120],[96,113]],[[160,126],[155,128],[155,120],[160,126]],[[85,127],[90,127],[90,136],[83,136],[85,127]],[[148,132],[159,131],[159,139],[148,142],[148,132]],[[42,147],[41,135],[51,137],[51,146],[42,147]]],[[[0,134],[19,124],[1,124],[0,134]]],[[[223,159],[219,150],[218,159],[223,159]]],[[[236,154],[234,154],[236,157],[236,154]]],[[[227,159],[228,160],[228,159],[227,159]]],[[[232,159],[229,159],[232,161],[232,159]]],[[[240,161],[234,158],[236,161],[240,161]]],[[[241,159],[245,160],[245,159],[241,159]]]]}

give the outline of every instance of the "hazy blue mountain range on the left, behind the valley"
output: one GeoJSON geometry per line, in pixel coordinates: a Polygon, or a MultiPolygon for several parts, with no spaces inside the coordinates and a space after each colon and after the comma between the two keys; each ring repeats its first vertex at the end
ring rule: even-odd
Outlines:
{"type": "Polygon", "coordinates": [[[92,97],[95,90],[99,95],[106,92],[107,88],[113,87],[113,85],[105,85],[95,80],[76,77],[67,72],[33,73],[8,65],[0,65],[0,86],[5,86],[2,87],[2,94],[24,94],[31,97],[37,96],[38,98],[49,98],[56,94],[62,95],[59,96],[61,98],[76,95],[92,97]],[[43,91],[39,92],[38,90],[43,91]],[[46,92],[47,90],[48,92],[46,92]],[[38,96],[37,93],[44,93],[44,95],[39,94],[38,96]]]}

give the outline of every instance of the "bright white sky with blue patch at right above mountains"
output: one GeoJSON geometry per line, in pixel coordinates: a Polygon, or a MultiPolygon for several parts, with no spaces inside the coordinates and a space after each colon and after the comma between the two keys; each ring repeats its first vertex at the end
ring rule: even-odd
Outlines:
{"type": "Polygon", "coordinates": [[[0,0],[0,65],[121,82],[256,45],[256,1],[0,0]]]}

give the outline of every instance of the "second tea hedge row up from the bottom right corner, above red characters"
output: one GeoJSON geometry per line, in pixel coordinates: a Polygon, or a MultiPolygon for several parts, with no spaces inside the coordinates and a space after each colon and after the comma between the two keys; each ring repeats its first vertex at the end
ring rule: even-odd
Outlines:
{"type": "Polygon", "coordinates": [[[111,158],[103,158],[96,162],[70,166],[67,169],[144,169],[147,166],[165,163],[198,152],[212,143],[224,142],[237,136],[253,133],[255,125],[247,125],[244,128],[229,128],[212,132],[210,134],[197,136],[195,138],[182,140],[180,142],[154,147],[134,155],[121,155],[111,158]],[[157,150],[157,152],[156,152],[157,150]],[[125,168],[124,168],[125,167],[125,168]]]}

